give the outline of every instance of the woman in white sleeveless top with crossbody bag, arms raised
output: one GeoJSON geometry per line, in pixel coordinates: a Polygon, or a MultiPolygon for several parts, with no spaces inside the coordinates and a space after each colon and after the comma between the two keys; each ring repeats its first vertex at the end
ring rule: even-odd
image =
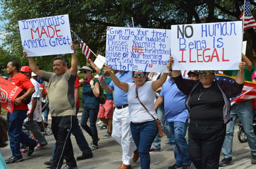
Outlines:
{"type": "MultiPolygon", "coordinates": [[[[167,64],[167,68],[171,69],[171,65],[167,64]]],[[[158,133],[157,124],[152,117],[157,118],[157,113],[154,110],[155,90],[163,85],[168,73],[163,73],[158,80],[147,81],[146,72],[135,71],[132,72],[134,83],[130,84],[117,79],[111,71],[111,67],[106,66],[106,71],[110,73],[114,84],[127,93],[130,131],[137,150],[139,150],[140,168],[150,168],[149,150],[158,133]]]]}

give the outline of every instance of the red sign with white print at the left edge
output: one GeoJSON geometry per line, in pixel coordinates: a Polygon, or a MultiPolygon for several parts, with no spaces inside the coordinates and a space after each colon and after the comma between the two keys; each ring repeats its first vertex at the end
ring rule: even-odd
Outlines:
{"type": "Polygon", "coordinates": [[[8,80],[0,77],[0,103],[1,107],[12,113],[14,108],[14,100],[21,93],[22,89],[12,84],[8,80]]]}

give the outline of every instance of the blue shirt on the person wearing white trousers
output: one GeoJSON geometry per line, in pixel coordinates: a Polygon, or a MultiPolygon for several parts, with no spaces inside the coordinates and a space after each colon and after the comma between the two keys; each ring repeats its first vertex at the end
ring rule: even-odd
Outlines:
{"type": "MultiPolygon", "coordinates": [[[[117,78],[121,82],[127,82],[127,83],[133,83],[134,81],[132,80],[132,71],[124,71],[122,74],[121,72],[118,72],[116,74],[117,78]]],[[[109,87],[114,89],[114,104],[116,106],[122,106],[128,104],[127,101],[127,93],[119,89],[114,82],[111,81],[109,84],[109,87]]]]}

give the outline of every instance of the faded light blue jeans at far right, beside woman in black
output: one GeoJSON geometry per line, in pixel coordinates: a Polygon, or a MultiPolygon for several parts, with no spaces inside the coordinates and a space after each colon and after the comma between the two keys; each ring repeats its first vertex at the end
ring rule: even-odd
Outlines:
{"type": "Polygon", "coordinates": [[[235,103],[231,108],[232,121],[227,123],[226,136],[222,145],[222,154],[224,158],[232,158],[232,143],[234,136],[234,126],[237,118],[240,119],[252,155],[256,155],[256,138],[254,134],[254,126],[252,123],[253,115],[252,105],[249,101],[235,103]]]}

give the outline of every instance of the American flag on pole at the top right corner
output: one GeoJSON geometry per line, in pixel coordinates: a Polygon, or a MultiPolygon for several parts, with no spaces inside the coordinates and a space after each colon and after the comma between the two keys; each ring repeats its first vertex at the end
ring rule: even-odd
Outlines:
{"type": "Polygon", "coordinates": [[[250,1],[245,0],[245,7],[244,7],[244,12],[240,14],[239,19],[243,19],[244,17],[244,30],[247,30],[249,28],[255,28],[256,27],[256,22],[254,19],[254,16],[252,15],[252,12],[250,12],[250,1]]]}

